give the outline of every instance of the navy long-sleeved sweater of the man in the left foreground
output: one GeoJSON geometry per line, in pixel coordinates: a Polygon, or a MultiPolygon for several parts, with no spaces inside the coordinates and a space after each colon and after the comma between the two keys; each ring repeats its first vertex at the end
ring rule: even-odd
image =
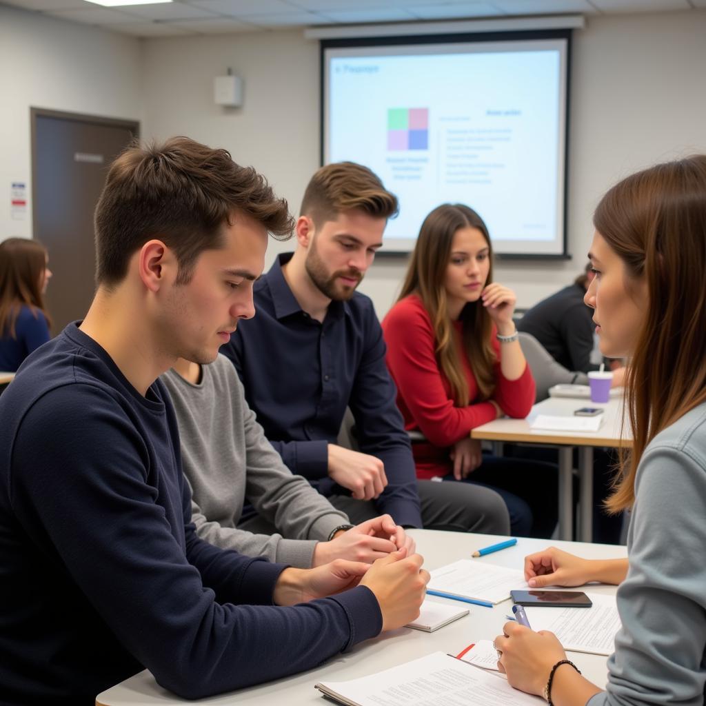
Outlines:
{"type": "Polygon", "coordinates": [[[365,587],[273,606],[283,566],[196,537],[177,422],[68,325],[0,398],[0,703],[92,704],[143,667],[185,698],[381,630],[365,587]]]}

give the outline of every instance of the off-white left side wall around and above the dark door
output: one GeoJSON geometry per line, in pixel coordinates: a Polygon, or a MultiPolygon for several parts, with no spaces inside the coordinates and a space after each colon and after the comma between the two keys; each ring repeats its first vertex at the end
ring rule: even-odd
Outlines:
{"type": "Polygon", "coordinates": [[[140,119],[140,40],[0,6],[0,240],[32,237],[30,107],[140,119]],[[10,186],[27,184],[13,220],[10,186]]]}

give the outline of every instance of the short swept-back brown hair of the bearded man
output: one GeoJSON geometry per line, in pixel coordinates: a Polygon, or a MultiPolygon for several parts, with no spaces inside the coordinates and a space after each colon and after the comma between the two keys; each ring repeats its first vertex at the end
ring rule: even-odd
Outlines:
{"type": "Polygon", "coordinates": [[[335,162],[311,177],[301,201],[301,215],[315,224],[335,220],[342,211],[358,209],[376,218],[397,215],[397,196],[368,167],[355,162],[335,162]]]}

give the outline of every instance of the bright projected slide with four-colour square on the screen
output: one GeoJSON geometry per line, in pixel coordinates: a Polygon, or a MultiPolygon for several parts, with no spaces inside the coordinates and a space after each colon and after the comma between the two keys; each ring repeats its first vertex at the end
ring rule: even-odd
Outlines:
{"type": "Polygon", "coordinates": [[[498,252],[563,252],[566,69],[552,44],[327,50],[325,161],[366,164],[397,193],[386,249],[411,249],[432,208],[460,202],[498,252]]]}

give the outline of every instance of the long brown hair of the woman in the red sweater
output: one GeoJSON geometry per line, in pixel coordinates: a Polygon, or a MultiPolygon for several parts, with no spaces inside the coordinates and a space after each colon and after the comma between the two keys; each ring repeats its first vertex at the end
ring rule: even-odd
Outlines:
{"type": "MultiPolygon", "coordinates": [[[[469,227],[477,228],[488,244],[490,268],[486,284],[492,282],[493,246],[483,219],[462,203],[444,203],[431,211],[421,224],[400,294],[400,299],[409,294],[417,294],[429,313],[436,337],[436,360],[451,385],[457,407],[465,407],[472,400],[469,400],[468,383],[453,339],[444,282],[454,234],[460,228],[469,227]]],[[[463,347],[476,376],[479,397],[487,400],[495,388],[493,364],[496,356],[491,345],[492,321],[485,307],[477,302],[466,304],[460,318],[463,324],[463,347]]]]}

